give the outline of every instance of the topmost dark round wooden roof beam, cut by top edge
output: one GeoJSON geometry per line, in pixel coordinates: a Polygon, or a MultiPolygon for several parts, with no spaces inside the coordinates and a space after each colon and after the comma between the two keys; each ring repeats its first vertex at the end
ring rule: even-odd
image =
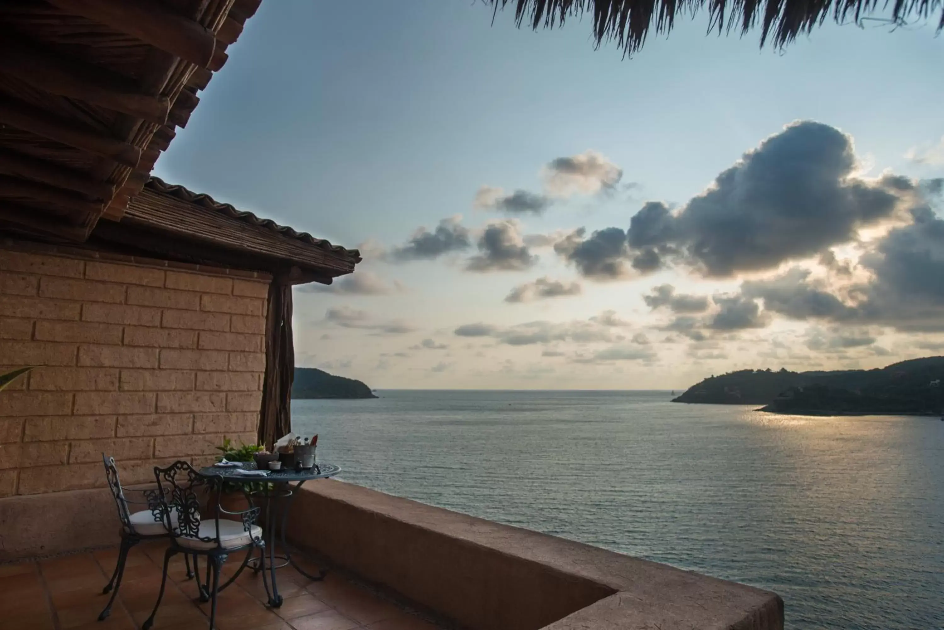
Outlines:
{"type": "Polygon", "coordinates": [[[209,67],[216,36],[153,0],[49,0],[67,13],[111,26],[182,60],[209,67]]]}

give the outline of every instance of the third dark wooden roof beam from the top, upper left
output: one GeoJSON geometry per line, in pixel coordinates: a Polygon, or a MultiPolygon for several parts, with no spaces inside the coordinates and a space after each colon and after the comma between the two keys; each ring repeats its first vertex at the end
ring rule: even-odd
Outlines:
{"type": "Polygon", "coordinates": [[[141,149],[137,146],[3,98],[0,98],[0,123],[89,151],[130,168],[141,161],[141,149]]]}

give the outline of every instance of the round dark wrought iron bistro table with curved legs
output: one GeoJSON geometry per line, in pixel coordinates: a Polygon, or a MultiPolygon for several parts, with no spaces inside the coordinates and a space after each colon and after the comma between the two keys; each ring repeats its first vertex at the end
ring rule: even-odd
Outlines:
{"type": "MultiPolygon", "coordinates": [[[[257,469],[255,462],[244,462],[239,468],[244,470],[257,469]]],[[[269,605],[273,608],[278,608],[278,606],[282,604],[282,596],[278,594],[278,584],[276,582],[277,569],[292,565],[296,571],[310,580],[321,580],[327,573],[327,570],[322,569],[318,571],[317,576],[312,575],[299,567],[292,557],[292,552],[285,542],[285,524],[288,522],[289,508],[292,506],[292,499],[305,482],[312,479],[328,479],[341,472],[341,468],[333,464],[318,464],[312,468],[270,470],[269,474],[265,476],[242,475],[236,472],[236,470],[236,467],[208,466],[202,468],[200,473],[204,475],[216,475],[223,477],[227,482],[246,486],[244,490],[249,497],[249,501],[253,502],[253,507],[257,507],[254,499],[261,499],[261,502],[264,503],[259,506],[265,514],[265,534],[262,536],[267,538],[265,541],[266,549],[263,550],[262,553],[268,553],[269,557],[264,564],[267,565],[265,569],[269,570],[269,575],[272,577],[272,592],[269,593],[269,605]],[[281,551],[284,555],[281,553],[277,555],[275,553],[277,529],[276,519],[273,519],[273,515],[277,512],[273,505],[275,502],[282,503],[281,514],[278,515],[278,538],[282,543],[281,551]],[[275,565],[276,558],[284,560],[278,567],[275,565]]],[[[223,590],[225,587],[232,584],[236,578],[239,577],[239,574],[243,572],[246,565],[252,564],[253,570],[256,572],[262,569],[263,564],[259,561],[261,558],[252,558],[250,557],[251,553],[252,549],[250,548],[242,566],[240,566],[239,570],[237,570],[219,590],[223,590]]],[[[197,581],[199,581],[199,577],[197,581]]]]}

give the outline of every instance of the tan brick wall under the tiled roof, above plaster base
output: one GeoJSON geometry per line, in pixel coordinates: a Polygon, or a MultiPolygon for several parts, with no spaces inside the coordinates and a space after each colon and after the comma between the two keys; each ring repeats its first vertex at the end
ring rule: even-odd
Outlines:
{"type": "Polygon", "coordinates": [[[0,392],[0,497],[256,441],[268,279],[127,260],[0,248],[0,371],[41,366],[0,392]]]}

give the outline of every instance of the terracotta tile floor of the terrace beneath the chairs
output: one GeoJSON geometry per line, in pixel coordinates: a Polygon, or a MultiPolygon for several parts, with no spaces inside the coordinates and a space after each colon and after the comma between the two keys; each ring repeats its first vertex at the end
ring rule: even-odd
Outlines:
{"type": "MultiPolygon", "coordinates": [[[[110,595],[102,594],[118,551],[108,549],[40,561],[0,565],[0,630],[140,630],[160,588],[160,564],[166,543],[143,543],[131,550],[125,578],[105,621],[98,613],[110,595]]],[[[231,575],[242,561],[230,556],[223,572],[231,575]]],[[[204,567],[201,562],[201,568],[204,567]]],[[[313,569],[313,568],[312,568],[313,569]]],[[[194,580],[175,556],[154,630],[206,630],[209,606],[196,600],[194,580]]],[[[336,571],[312,582],[294,569],[278,570],[278,590],[285,598],[270,609],[261,576],[244,570],[219,595],[218,630],[436,630],[430,622],[380,599],[336,571]]]]}

